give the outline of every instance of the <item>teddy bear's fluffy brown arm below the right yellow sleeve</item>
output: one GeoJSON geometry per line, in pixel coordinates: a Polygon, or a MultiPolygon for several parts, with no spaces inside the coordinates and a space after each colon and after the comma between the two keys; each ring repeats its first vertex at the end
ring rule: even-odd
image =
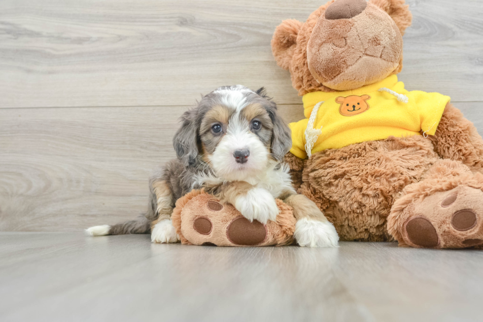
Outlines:
{"type": "Polygon", "coordinates": [[[450,103],[434,136],[429,136],[435,151],[443,158],[461,161],[472,171],[483,173],[483,140],[473,123],[450,103]]]}

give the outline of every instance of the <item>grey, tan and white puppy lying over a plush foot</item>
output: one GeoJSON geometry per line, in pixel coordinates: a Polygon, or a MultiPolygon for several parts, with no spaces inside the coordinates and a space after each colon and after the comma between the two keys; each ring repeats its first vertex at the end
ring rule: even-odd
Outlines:
{"type": "Polygon", "coordinates": [[[94,226],[90,236],[151,232],[153,243],[179,241],[171,222],[178,198],[192,189],[212,193],[263,224],[275,220],[275,198],[293,208],[300,246],[335,247],[334,226],[307,197],[292,187],[283,162],[292,145],[290,130],[263,88],[222,86],[181,117],[173,138],[177,158],[149,182],[148,212],[114,226],[94,226]]]}

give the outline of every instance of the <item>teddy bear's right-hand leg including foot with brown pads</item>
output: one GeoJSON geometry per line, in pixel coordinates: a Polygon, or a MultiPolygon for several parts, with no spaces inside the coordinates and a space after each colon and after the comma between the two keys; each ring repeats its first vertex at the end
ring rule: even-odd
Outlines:
{"type": "Polygon", "coordinates": [[[422,181],[404,188],[387,229],[400,246],[483,245],[483,174],[460,161],[437,161],[422,181]]]}

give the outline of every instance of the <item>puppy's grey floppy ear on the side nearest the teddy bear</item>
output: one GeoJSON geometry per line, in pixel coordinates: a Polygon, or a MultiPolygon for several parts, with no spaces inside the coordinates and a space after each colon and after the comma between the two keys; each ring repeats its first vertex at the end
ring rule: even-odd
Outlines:
{"type": "Polygon", "coordinates": [[[292,133],[278,113],[276,104],[274,102],[271,103],[272,106],[268,108],[268,113],[274,124],[274,129],[270,148],[276,160],[283,161],[285,154],[292,147],[292,133]]]}

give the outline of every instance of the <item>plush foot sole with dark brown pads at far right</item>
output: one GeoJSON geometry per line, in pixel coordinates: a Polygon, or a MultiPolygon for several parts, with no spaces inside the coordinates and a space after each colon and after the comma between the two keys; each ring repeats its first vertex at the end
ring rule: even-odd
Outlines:
{"type": "Polygon", "coordinates": [[[426,248],[483,244],[483,191],[459,186],[415,201],[403,212],[402,238],[426,248]]]}

